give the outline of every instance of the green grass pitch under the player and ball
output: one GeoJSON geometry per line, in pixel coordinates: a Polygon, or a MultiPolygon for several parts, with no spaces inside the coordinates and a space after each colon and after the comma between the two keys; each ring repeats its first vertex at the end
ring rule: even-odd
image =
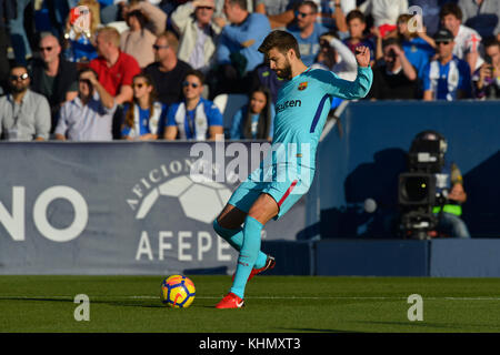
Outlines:
{"type": "Polygon", "coordinates": [[[242,310],[214,310],[230,276],[191,276],[197,297],[160,302],[161,276],[0,276],[0,332],[500,332],[500,278],[258,276],[242,310]],[[77,322],[77,294],[90,321],[77,322]],[[408,296],[423,298],[410,322],[408,296]]]}

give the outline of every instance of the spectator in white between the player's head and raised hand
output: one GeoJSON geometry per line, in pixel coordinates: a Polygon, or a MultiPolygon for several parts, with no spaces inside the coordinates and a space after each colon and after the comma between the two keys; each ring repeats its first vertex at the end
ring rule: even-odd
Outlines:
{"type": "Polygon", "coordinates": [[[358,75],[358,62],[351,50],[329,31],[320,37],[320,51],[312,68],[329,70],[339,78],[354,81],[358,75]]]}

